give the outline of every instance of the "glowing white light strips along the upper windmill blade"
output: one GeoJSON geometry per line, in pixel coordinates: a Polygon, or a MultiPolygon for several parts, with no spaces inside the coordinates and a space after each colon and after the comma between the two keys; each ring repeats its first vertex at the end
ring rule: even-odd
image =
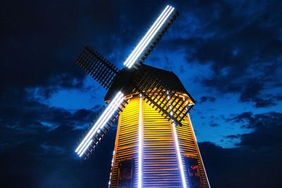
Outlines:
{"type": "Polygon", "coordinates": [[[128,58],[125,60],[125,62],[123,63],[124,65],[126,65],[128,68],[131,68],[133,66],[137,58],[139,58],[140,54],[142,54],[142,52],[146,49],[149,42],[152,41],[154,36],[157,34],[161,26],[164,25],[164,23],[166,22],[169,15],[171,15],[173,10],[174,8],[172,6],[166,6],[164,11],[161,13],[161,15],[159,15],[159,18],[157,18],[157,20],[154,22],[152,27],[150,27],[150,29],[146,33],[146,35],[137,44],[137,46],[130,54],[130,56],[128,56],[128,58]]]}

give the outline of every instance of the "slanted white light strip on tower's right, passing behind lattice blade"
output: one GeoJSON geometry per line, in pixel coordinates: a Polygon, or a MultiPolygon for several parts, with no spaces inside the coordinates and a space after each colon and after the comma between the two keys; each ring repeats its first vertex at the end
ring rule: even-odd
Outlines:
{"type": "MultiPolygon", "coordinates": [[[[167,92],[167,94],[168,94],[168,92],[167,92]]],[[[170,96],[168,95],[168,100],[169,99],[170,99],[170,96]]],[[[171,102],[169,101],[168,104],[169,104],[169,109],[171,109],[171,102]]],[[[173,115],[172,110],[171,110],[170,114],[173,115]]],[[[173,132],[174,144],[176,146],[176,156],[177,156],[177,161],[178,161],[178,165],[179,165],[179,169],[180,169],[180,175],[181,175],[181,180],[182,180],[181,182],[183,184],[183,188],[187,188],[185,174],[184,174],[184,170],[183,170],[182,158],[181,158],[179,144],[178,144],[176,124],[173,121],[172,121],[172,132],[173,132]]]]}

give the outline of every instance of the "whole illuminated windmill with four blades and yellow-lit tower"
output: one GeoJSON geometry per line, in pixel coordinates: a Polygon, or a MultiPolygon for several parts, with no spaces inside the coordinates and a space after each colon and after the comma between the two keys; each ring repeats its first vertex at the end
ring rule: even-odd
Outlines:
{"type": "Polygon", "coordinates": [[[195,100],[174,73],[143,64],[177,16],[166,6],[122,70],[90,46],[76,60],[108,90],[78,156],[88,158],[118,119],[109,187],[209,187],[189,117],[195,100]]]}

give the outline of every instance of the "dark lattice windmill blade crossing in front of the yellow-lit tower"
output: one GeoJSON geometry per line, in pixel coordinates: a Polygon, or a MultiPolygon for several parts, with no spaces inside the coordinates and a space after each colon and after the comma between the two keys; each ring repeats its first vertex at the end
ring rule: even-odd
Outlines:
{"type": "Polygon", "coordinates": [[[165,118],[182,126],[181,121],[194,104],[184,96],[179,96],[177,92],[171,91],[166,84],[148,72],[140,71],[135,79],[135,89],[142,94],[143,99],[165,118]]]}

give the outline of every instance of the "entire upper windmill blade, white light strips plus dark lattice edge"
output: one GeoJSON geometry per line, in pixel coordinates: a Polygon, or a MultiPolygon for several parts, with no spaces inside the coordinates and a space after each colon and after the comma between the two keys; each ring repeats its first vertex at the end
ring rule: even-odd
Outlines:
{"type": "Polygon", "coordinates": [[[166,6],[123,64],[128,68],[137,68],[156,46],[177,15],[178,12],[172,6],[166,6]]]}

